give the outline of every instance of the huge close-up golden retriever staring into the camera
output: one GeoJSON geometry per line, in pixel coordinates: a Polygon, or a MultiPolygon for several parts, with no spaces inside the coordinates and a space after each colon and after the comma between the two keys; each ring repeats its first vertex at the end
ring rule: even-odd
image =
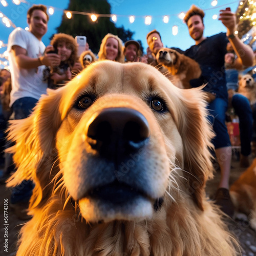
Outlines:
{"type": "Polygon", "coordinates": [[[203,97],[150,65],[106,60],[12,121],[8,186],[35,183],[17,256],[236,255],[205,196],[203,97]]]}

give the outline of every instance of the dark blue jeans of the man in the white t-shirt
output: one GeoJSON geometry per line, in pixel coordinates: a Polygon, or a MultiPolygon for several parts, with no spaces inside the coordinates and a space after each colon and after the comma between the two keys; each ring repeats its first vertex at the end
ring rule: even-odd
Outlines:
{"type": "MultiPolygon", "coordinates": [[[[15,100],[12,104],[14,119],[27,118],[31,114],[37,101],[37,99],[30,97],[15,100]]],[[[13,188],[11,203],[16,204],[28,202],[32,196],[33,188],[34,184],[31,180],[24,180],[21,184],[13,188]]]]}

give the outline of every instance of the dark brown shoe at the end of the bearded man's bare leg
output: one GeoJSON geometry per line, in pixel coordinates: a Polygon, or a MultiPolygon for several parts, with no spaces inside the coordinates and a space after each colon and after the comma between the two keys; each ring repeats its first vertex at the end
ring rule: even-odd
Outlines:
{"type": "Polygon", "coordinates": [[[233,218],[234,206],[229,195],[229,190],[227,188],[220,187],[216,192],[214,200],[215,204],[220,206],[220,209],[225,215],[233,218]]]}

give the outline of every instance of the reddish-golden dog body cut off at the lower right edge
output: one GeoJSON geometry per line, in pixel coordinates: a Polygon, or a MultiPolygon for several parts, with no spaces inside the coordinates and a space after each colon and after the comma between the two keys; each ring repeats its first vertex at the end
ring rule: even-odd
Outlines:
{"type": "Polygon", "coordinates": [[[230,187],[230,197],[236,210],[249,218],[251,228],[256,231],[256,158],[230,187]]]}

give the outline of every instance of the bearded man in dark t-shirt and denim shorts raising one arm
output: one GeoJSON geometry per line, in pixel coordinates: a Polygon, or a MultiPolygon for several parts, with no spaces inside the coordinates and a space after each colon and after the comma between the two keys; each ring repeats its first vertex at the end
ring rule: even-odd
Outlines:
{"type": "Polygon", "coordinates": [[[229,174],[231,163],[231,144],[225,125],[225,113],[228,106],[228,95],[226,87],[224,56],[227,53],[227,42],[230,41],[238,58],[237,62],[244,66],[251,66],[253,53],[250,47],[246,46],[234,34],[236,30],[236,15],[230,9],[220,10],[219,20],[226,27],[226,33],[220,33],[210,37],[204,36],[204,12],[195,5],[187,11],[184,22],[187,24],[191,38],[195,45],[187,49],[184,54],[196,60],[202,70],[199,79],[190,81],[192,87],[202,86],[206,93],[213,93],[208,103],[208,118],[212,123],[216,137],[212,140],[215,147],[216,158],[221,170],[221,181],[217,190],[215,201],[220,205],[222,211],[233,216],[233,205],[229,196],[229,174]]]}

